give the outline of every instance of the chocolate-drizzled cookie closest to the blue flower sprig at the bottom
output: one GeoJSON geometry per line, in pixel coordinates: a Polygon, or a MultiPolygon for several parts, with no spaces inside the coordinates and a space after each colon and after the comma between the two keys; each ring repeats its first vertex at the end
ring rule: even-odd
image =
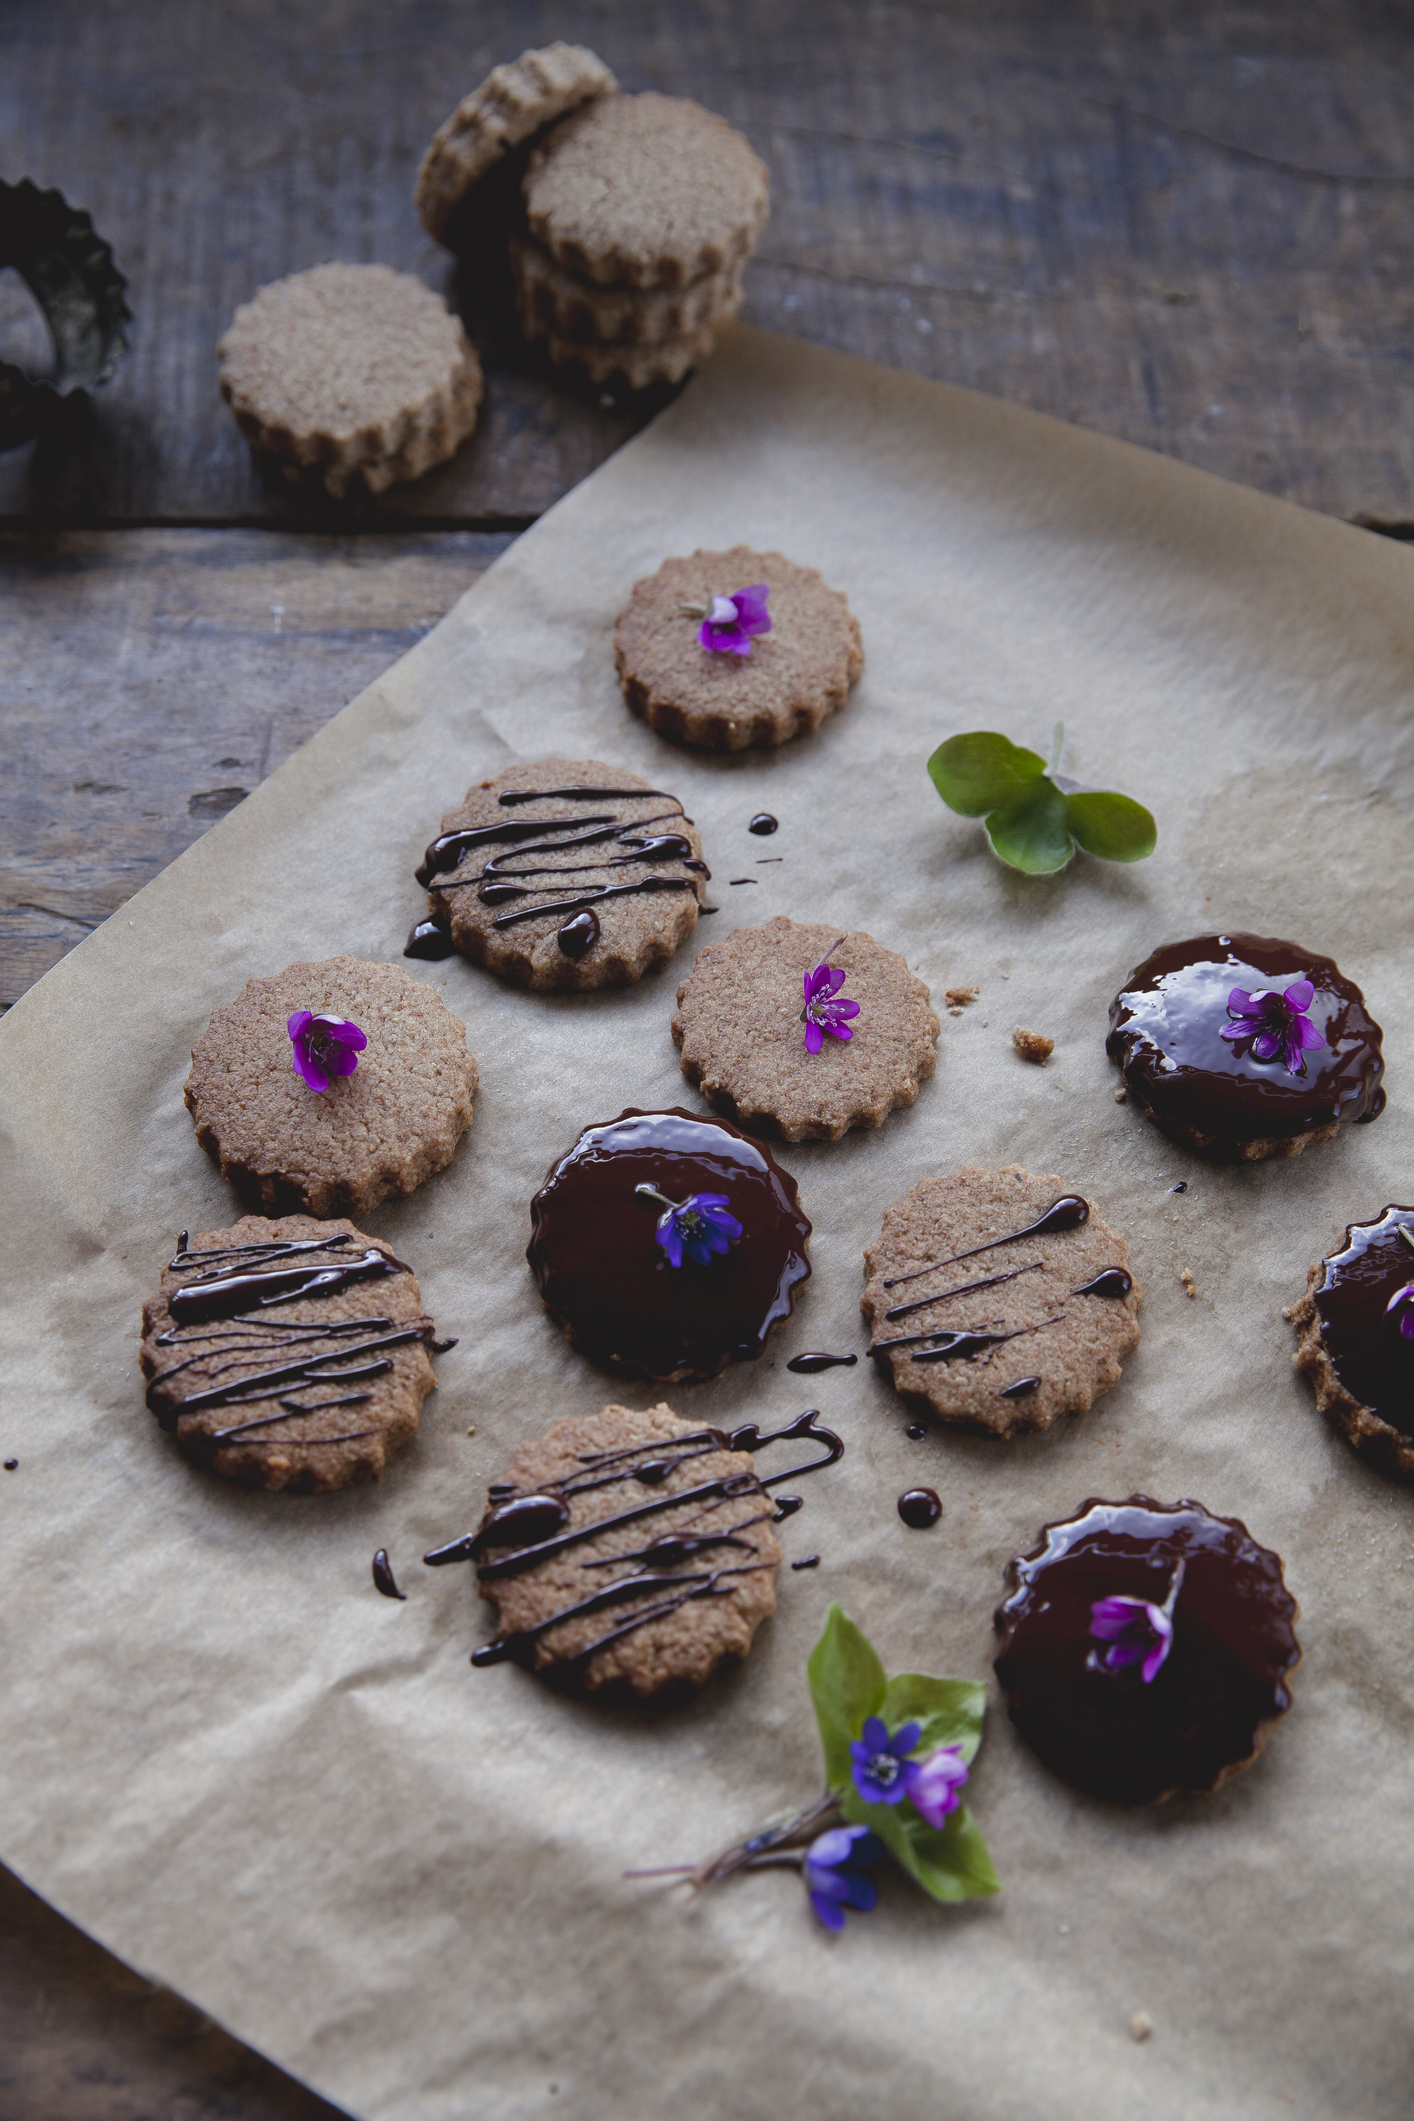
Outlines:
{"type": "Polygon", "coordinates": [[[719,1430],[670,1406],[570,1415],[490,1491],[469,1550],[500,1635],[473,1663],[640,1699],[702,1686],[776,1610],[772,1517],[719,1430]]]}

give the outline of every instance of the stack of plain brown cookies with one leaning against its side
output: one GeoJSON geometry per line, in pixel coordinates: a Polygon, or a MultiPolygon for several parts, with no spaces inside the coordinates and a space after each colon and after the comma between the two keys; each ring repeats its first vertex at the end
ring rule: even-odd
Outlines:
{"type": "Polygon", "coordinates": [[[621,95],[591,51],[551,45],[498,66],[439,129],[413,195],[428,233],[460,246],[473,189],[513,151],[522,210],[507,240],[526,337],[596,384],[681,382],[742,305],[765,163],[700,104],[621,95]]]}

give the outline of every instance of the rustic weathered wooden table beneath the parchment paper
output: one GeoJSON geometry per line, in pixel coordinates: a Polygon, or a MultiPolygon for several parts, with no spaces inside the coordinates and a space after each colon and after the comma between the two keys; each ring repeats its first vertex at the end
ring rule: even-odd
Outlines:
{"type": "MultiPolygon", "coordinates": [[[[0,1007],[657,409],[517,350],[411,210],[454,98],[555,36],[767,159],[750,322],[1414,537],[1410,0],[6,0],[0,174],[93,212],[136,322],[0,456],[0,1007]],[[490,365],[458,460],[348,507],[263,477],[214,373],[329,257],[445,288],[490,365]]],[[[0,2113],[333,2108],[0,1873],[0,2113]]]]}

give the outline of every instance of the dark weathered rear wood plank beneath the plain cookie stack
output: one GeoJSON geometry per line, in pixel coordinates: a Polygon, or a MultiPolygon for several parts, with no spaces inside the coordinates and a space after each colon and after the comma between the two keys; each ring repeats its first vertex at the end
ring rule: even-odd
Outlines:
{"type": "MultiPolygon", "coordinates": [[[[138,325],[66,437],[0,458],[0,518],[299,520],[216,395],[231,310],[324,257],[452,288],[418,155],[496,59],[562,34],[772,163],[753,320],[1414,520],[1408,0],[11,0],[8,168],[93,210],[138,325]]],[[[458,462],[354,520],[524,524],[640,416],[498,358],[458,462]]]]}

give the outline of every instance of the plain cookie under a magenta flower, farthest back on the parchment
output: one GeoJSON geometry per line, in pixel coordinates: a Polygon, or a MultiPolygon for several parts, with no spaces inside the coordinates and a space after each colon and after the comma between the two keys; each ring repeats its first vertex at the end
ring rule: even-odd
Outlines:
{"type": "Polygon", "coordinates": [[[816,568],[778,551],[695,551],[664,560],[634,583],[615,630],[623,698],[661,736],[704,751],[744,751],[810,736],[844,706],[865,668],[859,619],[816,568]],[[748,655],[717,653],[697,641],[685,604],[765,583],[770,634],[748,655]]]}

